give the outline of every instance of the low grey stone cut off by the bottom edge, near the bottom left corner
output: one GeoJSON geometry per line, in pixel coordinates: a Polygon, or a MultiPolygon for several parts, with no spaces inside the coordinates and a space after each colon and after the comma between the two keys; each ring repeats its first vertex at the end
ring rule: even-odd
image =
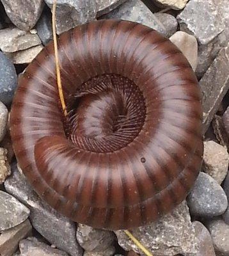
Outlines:
{"type": "Polygon", "coordinates": [[[36,237],[23,239],[19,243],[19,248],[22,256],[68,256],[66,252],[39,242],[36,237]]]}

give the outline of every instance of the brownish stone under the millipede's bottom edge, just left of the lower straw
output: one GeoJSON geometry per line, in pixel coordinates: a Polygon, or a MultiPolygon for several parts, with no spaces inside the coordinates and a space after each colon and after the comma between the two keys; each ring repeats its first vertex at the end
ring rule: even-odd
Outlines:
{"type": "Polygon", "coordinates": [[[83,224],[78,225],[76,237],[84,250],[93,252],[104,252],[114,241],[113,232],[83,224]]]}

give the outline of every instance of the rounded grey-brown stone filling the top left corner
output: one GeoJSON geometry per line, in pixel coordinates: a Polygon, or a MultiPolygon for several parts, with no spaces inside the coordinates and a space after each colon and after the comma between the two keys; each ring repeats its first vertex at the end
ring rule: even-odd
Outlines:
{"type": "Polygon", "coordinates": [[[43,0],[1,0],[10,20],[22,30],[29,31],[40,17],[43,0]]]}

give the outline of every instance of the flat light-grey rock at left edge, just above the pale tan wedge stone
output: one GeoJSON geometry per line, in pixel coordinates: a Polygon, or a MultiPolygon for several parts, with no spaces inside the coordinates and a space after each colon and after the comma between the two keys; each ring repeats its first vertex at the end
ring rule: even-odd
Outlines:
{"type": "Polygon", "coordinates": [[[26,32],[19,28],[6,28],[0,30],[0,49],[3,52],[16,52],[28,49],[42,42],[36,31],[26,32]]]}

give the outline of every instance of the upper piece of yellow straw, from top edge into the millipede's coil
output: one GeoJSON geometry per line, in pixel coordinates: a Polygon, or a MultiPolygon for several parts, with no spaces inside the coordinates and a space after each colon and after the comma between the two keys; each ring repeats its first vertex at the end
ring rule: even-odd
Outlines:
{"type": "Polygon", "coordinates": [[[54,53],[55,53],[55,62],[56,62],[56,80],[58,84],[59,99],[61,101],[63,113],[65,116],[67,116],[67,108],[65,104],[65,98],[63,95],[63,88],[61,84],[61,76],[59,71],[58,44],[56,40],[56,0],[52,5],[52,34],[53,34],[53,42],[54,42],[54,53]]]}

